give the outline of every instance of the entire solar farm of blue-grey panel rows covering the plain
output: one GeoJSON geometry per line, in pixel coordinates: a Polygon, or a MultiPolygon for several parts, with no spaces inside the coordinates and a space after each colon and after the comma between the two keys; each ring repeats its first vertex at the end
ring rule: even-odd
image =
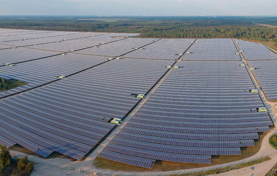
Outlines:
{"type": "Polygon", "coordinates": [[[277,100],[277,54],[237,39],[137,36],[0,29],[0,78],[26,83],[0,92],[0,144],[81,160],[121,128],[99,157],[152,169],[209,165],[270,131],[254,80],[277,100]]]}

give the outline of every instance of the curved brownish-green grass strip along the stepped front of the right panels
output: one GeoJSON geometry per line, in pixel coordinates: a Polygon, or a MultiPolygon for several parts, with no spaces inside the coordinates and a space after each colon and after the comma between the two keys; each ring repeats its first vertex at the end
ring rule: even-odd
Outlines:
{"type": "Polygon", "coordinates": [[[153,169],[146,169],[137,166],[131,166],[116,161],[107,160],[101,157],[96,157],[93,162],[93,165],[100,167],[102,169],[116,170],[116,171],[171,171],[171,170],[183,170],[199,167],[214,166],[218,164],[224,164],[232,161],[239,161],[241,159],[250,157],[257,153],[262,145],[262,139],[267,134],[267,132],[259,133],[259,139],[254,140],[255,146],[253,147],[241,147],[241,155],[235,156],[212,156],[211,164],[190,164],[190,163],[180,163],[180,162],[170,162],[170,161],[160,161],[156,160],[153,169]]]}

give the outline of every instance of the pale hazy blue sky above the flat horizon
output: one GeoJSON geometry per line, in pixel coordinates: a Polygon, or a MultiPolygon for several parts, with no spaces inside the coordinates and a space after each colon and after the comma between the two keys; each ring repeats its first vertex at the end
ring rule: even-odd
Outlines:
{"type": "Polygon", "coordinates": [[[277,1],[0,0],[0,15],[277,15],[277,1]]]}

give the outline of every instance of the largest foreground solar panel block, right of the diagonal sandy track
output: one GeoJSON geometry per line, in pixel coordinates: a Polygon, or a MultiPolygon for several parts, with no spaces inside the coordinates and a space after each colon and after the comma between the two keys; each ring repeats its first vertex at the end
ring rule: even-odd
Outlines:
{"type": "Polygon", "coordinates": [[[211,155],[254,146],[272,122],[257,110],[264,105],[241,64],[181,61],[99,156],[152,168],[155,160],[209,164],[211,155]]]}

